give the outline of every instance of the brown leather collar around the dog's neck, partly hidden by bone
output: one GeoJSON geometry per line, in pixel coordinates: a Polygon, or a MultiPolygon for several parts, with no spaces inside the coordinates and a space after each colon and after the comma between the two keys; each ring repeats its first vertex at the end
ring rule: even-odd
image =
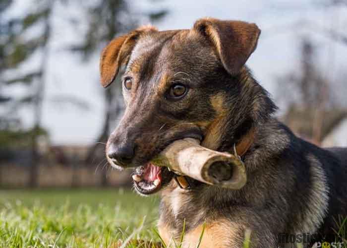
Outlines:
{"type": "MultiPolygon", "coordinates": [[[[234,146],[236,154],[242,158],[244,154],[248,151],[249,147],[254,142],[254,128],[252,127],[242,138],[241,140],[234,146]]],[[[182,189],[191,189],[196,185],[196,180],[182,175],[174,175],[174,180],[176,181],[176,184],[182,188],[182,189]]]]}

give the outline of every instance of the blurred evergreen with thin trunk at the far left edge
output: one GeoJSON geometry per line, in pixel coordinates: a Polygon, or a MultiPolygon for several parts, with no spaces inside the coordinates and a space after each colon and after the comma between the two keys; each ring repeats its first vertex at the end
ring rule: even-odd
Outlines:
{"type": "MultiPolygon", "coordinates": [[[[11,70],[11,75],[3,76],[1,73],[2,85],[21,84],[25,85],[29,92],[22,97],[8,98],[6,104],[10,104],[7,112],[3,116],[11,116],[16,109],[23,105],[31,104],[34,111],[34,125],[32,130],[28,131],[30,137],[30,146],[32,157],[30,159],[30,186],[37,185],[38,175],[38,138],[42,134],[41,116],[42,116],[42,101],[45,86],[45,76],[47,72],[47,61],[49,57],[49,38],[51,35],[51,16],[55,0],[40,0],[36,1],[35,8],[29,4],[30,10],[26,11],[24,16],[1,18],[1,39],[0,39],[0,56],[1,56],[1,71],[11,70]],[[34,37],[27,37],[26,31],[31,28],[41,26],[41,32],[34,37]],[[41,55],[41,62],[38,68],[29,72],[21,73],[20,65],[28,61],[35,52],[41,55]],[[15,71],[15,73],[13,73],[15,71]]],[[[2,0],[0,3],[0,11],[5,11],[12,4],[11,0],[2,0]]],[[[3,99],[4,97],[2,97],[3,99]]],[[[6,99],[6,97],[5,97],[6,99]]],[[[1,117],[3,119],[3,117],[1,117]]],[[[15,138],[11,130],[8,130],[8,135],[3,135],[7,138],[15,138]]],[[[27,136],[27,137],[28,137],[27,136]]]]}

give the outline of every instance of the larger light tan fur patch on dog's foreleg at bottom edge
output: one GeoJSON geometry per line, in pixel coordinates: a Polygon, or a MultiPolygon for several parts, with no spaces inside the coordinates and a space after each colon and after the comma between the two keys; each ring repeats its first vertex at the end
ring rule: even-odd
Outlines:
{"type": "MultiPolygon", "coordinates": [[[[183,248],[196,247],[203,230],[203,225],[188,232],[184,238],[183,248]]],[[[230,239],[237,235],[238,229],[225,220],[215,221],[205,226],[199,248],[230,248],[230,239]]]]}

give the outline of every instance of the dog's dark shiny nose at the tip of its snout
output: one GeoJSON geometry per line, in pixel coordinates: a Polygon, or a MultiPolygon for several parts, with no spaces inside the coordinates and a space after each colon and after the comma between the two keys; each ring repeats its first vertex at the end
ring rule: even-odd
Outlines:
{"type": "Polygon", "coordinates": [[[134,157],[134,146],[131,144],[111,144],[108,148],[107,155],[116,165],[127,166],[134,157]]]}

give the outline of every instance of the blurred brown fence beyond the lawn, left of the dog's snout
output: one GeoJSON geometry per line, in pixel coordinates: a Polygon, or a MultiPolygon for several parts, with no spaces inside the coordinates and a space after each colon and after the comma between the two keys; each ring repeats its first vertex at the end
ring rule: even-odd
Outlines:
{"type": "Polygon", "coordinates": [[[42,142],[37,156],[30,149],[0,148],[0,187],[32,186],[33,159],[35,186],[127,186],[130,172],[116,171],[106,161],[103,147],[90,163],[85,160],[89,146],[52,146],[42,142]],[[106,182],[106,183],[105,183],[106,182]]]}

